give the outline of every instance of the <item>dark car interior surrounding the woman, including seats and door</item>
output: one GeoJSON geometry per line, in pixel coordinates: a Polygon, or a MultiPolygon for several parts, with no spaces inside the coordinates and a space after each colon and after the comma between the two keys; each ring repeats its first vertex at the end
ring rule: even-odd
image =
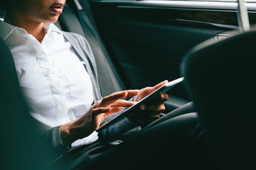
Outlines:
{"type": "MultiPolygon", "coordinates": [[[[184,83],[168,91],[162,115],[193,102],[219,169],[250,169],[256,151],[255,13],[256,3],[240,0],[67,0],[55,24],[88,40],[103,96],[184,77],[184,83]]],[[[3,120],[9,121],[1,128],[9,127],[9,122],[20,127],[9,127],[2,134],[7,136],[2,146],[20,150],[16,155],[3,147],[2,165],[44,169],[43,147],[37,148],[42,155],[29,152],[33,147],[29,139],[36,132],[30,127],[36,125],[22,98],[11,53],[2,41],[0,51],[1,108],[9,113],[4,114],[3,120]],[[17,112],[19,117],[12,117],[17,112]],[[14,142],[16,135],[19,144],[14,142]]]]}

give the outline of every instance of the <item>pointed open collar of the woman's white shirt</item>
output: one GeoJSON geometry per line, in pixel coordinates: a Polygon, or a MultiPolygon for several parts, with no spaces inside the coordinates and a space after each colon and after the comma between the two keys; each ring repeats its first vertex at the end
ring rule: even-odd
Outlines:
{"type": "MultiPolygon", "coordinates": [[[[4,21],[0,21],[0,29],[1,40],[5,40],[14,30],[18,30],[19,33],[27,33],[25,29],[13,26],[4,21]]],[[[63,32],[54,24],[45,24],[45,31],[48,32],[49,30],[63,34],[63,32]]]]}

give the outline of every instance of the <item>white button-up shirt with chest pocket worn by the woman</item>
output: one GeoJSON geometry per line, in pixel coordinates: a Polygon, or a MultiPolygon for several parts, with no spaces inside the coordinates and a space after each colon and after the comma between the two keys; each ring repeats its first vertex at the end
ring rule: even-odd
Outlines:
{"type": "MultiPolygon", "coordinates": [[[[54,24],[45,25],[47,33],[40,43],[25,29],[2,21],[0,28],[0,38],[13,55],[29,112],[43,130],[72,121],[90,108],[90,77],[61,30],[54,24]]],[[[93,132],[75,141],[72,148],[97,139],[97,132],[93,132]]]]}

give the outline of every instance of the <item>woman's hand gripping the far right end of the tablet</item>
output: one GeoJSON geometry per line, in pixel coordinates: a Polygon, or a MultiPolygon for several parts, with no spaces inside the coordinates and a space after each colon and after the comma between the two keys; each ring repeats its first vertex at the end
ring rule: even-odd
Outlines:
{"type": "MultiPolygon", "coordinates": [[[[139,102],[139,100],[143,99],[153,91],[155,91],[160,86],[168,83],[167,80],[153,86],[142,88],[139,91],[139,94],[133,97],[133,101],[139,102]]],[[[168,95],[166,93],[159,94],[152,102],[149,102],[145,105],[141,105],[139,110],[136,112],[130,113],[127,117],[138,119],[140,121],[144,121],[144,124],[149,124],[152,121],[158,119],[160,117],[160,113],[165,110],[164,102],[168,100],[168,95]]]]}

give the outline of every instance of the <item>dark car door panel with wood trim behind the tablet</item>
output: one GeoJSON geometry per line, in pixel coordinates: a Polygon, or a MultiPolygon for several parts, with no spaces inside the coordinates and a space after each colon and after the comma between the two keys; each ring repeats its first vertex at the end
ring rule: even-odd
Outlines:
{"type": "MultiPolygon", "coordinates": [[[[189,49],[238,29],[232,2],[92,0],[91,7],[110,57],[132,89],[180,77],[180,62],[189,49]]],[[[168,94],[181,104],[190,101],[182,84],[168,94]]]]}

